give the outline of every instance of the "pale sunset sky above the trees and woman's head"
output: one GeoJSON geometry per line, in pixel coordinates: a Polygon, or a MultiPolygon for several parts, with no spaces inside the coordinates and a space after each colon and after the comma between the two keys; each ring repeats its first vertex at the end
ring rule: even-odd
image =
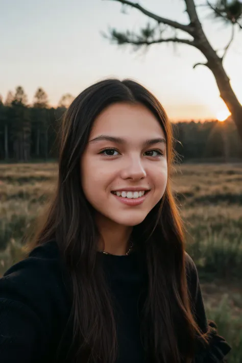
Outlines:
{"type": "MultiPolygon", "coordinates": [[[[203,0],[197,0],[199,4],[203,0]]],[[[141,0],[140,5],[163,17],[187,23],[183,0],[141,0]]],[[[101,32],[108,27],[137,30],[149,19],[112,0],[0,0],[0,94],[21,85],[28,101],[42,87],[52,106],[64,93],[77,96],[108,77],[134,79],[150,89],[172,120],[215,118],[226,113],[211,71],[193,65],[204,56],[186,44],[157,44],[147,52],[111,44],[101,32]]],[[[230,28],[208,18],[199,8],[211,44],[222,50],[230,28]]],[[[152,22],[151,22],[152,23],[152,22]]],[[[182,33],[179,33],[182,36],[182,33]]],[[[242,31],[224,60],[232,87],[242,102],[242,31]]]]}

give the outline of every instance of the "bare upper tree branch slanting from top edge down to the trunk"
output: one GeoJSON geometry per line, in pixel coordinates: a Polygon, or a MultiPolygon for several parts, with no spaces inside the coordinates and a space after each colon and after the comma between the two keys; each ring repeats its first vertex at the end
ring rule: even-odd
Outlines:
{"type": "MultiPolygon", "coordinates": [[[[163,24],[166,24],[166,25],[169,25],[170,27],[172,28],[175,28],[175,29],[179,29],[179,30],[183,30],[184,32],[192,35],[193,34],[193,28],[189,25],[185,25],[185,24],[181,24],[177,21],[174,21],[174,20],[171,20],[171,19],[166,19],[166,18],[163,18],[159,15],[156,15],[146,9],[144,9],[142,6],[140,6],[138,3],[132,3],[131,1],[129,0],[110,0],[110,1],[116,1],[120,4],[123,4],[123,5],[129,5],[131,6],[132,8],[135,8],[139,11],[141,11],[141,13],[143,13],[144,15],[147,15],[149,16],[150,18],[158,21],[158,23],[163,23],[163,24]]],[[[190,1],[190,0],[186,0],[186,1],[190,1]]]]}

